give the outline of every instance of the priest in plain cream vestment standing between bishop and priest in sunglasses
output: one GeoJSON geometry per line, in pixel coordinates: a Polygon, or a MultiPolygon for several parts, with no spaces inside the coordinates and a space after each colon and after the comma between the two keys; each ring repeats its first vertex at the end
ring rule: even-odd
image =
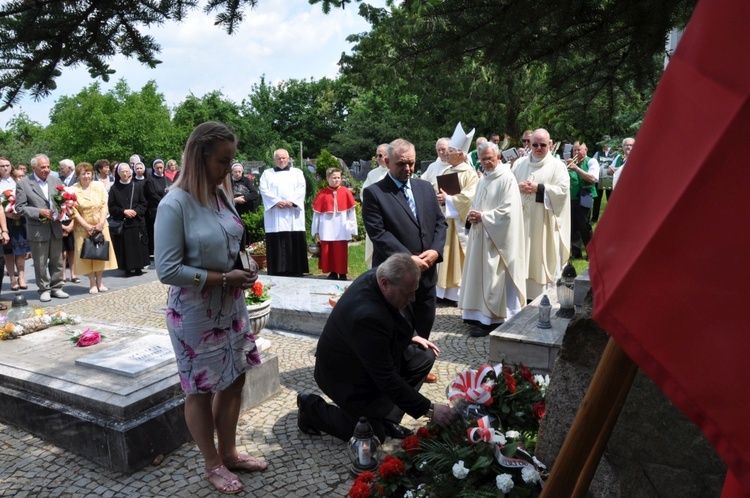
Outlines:
{"type": "Polygon", "coordinates": [[[525,234],[516,177],[493,142],[479,146],[484,170],[467,216],[466,259],[458,306],[470,334],[484,336],[526,305],[525,234]]]}

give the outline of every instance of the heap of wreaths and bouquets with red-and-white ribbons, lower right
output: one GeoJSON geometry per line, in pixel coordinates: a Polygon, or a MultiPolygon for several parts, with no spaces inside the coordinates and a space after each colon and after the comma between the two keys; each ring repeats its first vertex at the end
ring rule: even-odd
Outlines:
{"type": "Polygon", "coordinates": [[[461,416],[445,428],[420,427],[374,473],[361,474],[349,496],[538,496],[547,471],[533,450],[548,383],[524,366],[460,372],[448,394],[461,416]]]}

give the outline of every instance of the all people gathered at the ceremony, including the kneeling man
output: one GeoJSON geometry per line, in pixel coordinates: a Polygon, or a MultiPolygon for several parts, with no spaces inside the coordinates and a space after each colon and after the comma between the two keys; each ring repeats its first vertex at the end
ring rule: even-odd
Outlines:
{"type": "MultiPolygon", "coordinates": [[[[496,134],[479,137],[470,152],[474,133],[459,123],[438,139],[437,158],[421,178],[413,144],[399,138],[377,147],[360,196],[373,268],[351,284],[321,333],[314,378],[333,404],[298,393],[301,432],[348,440],[365,416],[379,438],[404,438],[411,434],[401,425],[406,413],[450,423],[447,405],[419,393],[437,380],[440,349],[430,333],[438,300],[461,308],[470,334],[484,336],[549,291],[568,258],[583,255],[591,210],[596,221],[635,142],[625,139],[616,155],[606,137],[594,157],[574,142],[561,159],[540,128],[524,132],[523,146],[504,156],[496,134]]],[[[74,282],[87,275],[96,294],[107,291],[105,270],[138,275],[153,255],[159,279],[170,285],[166,323],[185,419],[206,479],[227,494],[243,489],[237,472],[268,467],[236,446],[244,374],[260,363],[244,301],[257,268],[239,258],[251,242],[242,214],[262,203],[269,275],[309,272],[302,171],[279,149],[256,188],[235,162],[236,144],[228,127],[208,122],[190,135],[180,170],[161,159],[147,169],[133,155],[93,166],[63,160],[54,173],[38,154],[27,173],[0,158],[0,235],[12,290],[27,288],[29,255],[41,301],[68,297],[66,266],[74,282]],[[72,209],[59,202],[61,193],[74,195],[72,209]],[[108,256],[83,258],[86,239],[97,234],[110,243],[108,256]]],[[[320,242],[320,269],[336,280],[347,278],[348,241],[357,234],[357,203],[342,174],[326,171],[310,233],[320,242]]]]}

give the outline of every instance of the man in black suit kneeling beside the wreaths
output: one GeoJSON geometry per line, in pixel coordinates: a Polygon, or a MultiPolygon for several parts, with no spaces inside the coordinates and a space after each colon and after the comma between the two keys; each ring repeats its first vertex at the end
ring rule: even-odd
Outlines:
{"type": "Polygon", "coordinates": [[[404,412],[445,425],[454,412],[419,393],[440,350],[414,332],[411,303],[419,267],[409,254],[394,254],[363,273],[341,296],[318,341],[315,381],[336,405],[300,393],[297,425],[348,441],[367,417],[381,441],[404,438],[404,412]]]}

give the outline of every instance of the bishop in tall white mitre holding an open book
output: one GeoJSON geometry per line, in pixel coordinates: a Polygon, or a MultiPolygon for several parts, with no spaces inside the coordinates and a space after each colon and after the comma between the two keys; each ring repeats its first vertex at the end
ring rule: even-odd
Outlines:
{"type": "Polygon", "coordinates": [[[445,232],[443,261],[438,265],[438,282],[435,292],[438,299],[458,302],[461,288],[461,271],[466,254],[466,216],[469,214],[471,200],[479,183],[474,167],[468,162],[469,147],[474,137],[474,130],[467,135],[461,123],[458,123],[448,146],[449,167],[438,173],[436,181],[445,175],[457,175],[460,191],[449,195],[440,189],[438,203],[443,208],[448,229],[445,232]]]}

